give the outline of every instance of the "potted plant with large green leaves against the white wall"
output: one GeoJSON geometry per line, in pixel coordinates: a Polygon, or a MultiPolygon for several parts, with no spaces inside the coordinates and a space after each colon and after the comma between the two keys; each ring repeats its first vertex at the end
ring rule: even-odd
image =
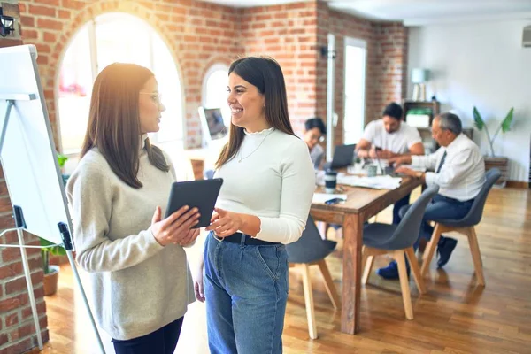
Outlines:
{"type": "Polygon", "coordinates": [[[502,172],[502,176],[500,179],[496,182],[497,186],[504,187],[505,183],[507,182],[507,175],[509,173],[509,158],[496,156],[494,153],[494,141],[496,140],[496,136],[500,133],[508,132],[511,130],[512,125],[512,113],[514,112],[514,108],[511,108],[507,115],[505,116],[505,119],[502,120],[502,123],[500,126],[496,129],[496,132],[492,137],[489,134],[489,128],[487,127],[487,124],[485,121],[481,118],[481,114],[478,111],[478,109],[474,106],[473,107],[473,121],[475,127],[478,128],[478,130],[483,130],[485,128],[485,133],[487,134],[487,139],[489,141],[489,148],[490,148],[490,155],[485,157],[485,170],[488,171],[491,168],[498,168],[502,172]]]}

